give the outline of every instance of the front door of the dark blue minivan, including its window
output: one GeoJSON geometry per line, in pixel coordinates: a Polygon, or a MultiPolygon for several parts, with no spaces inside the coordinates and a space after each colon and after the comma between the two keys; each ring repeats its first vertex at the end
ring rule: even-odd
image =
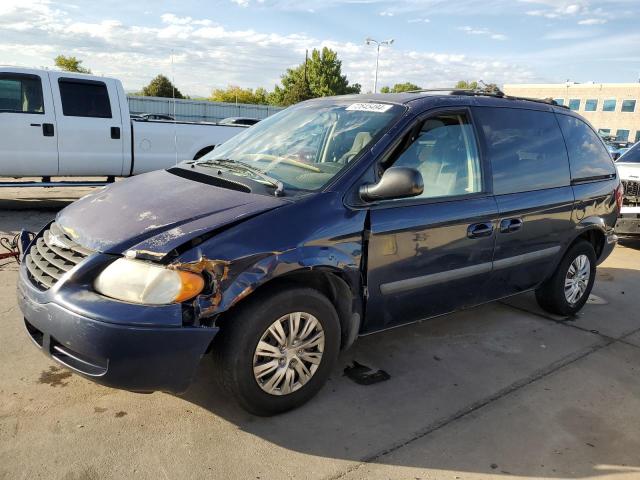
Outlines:
{"type": "Polygon", "coordinates": [[[498,211],[469,112],[427,118],[393,166],[417,169],[424,192],[371,207],[367,332],[483,302],[492,269],[498,211]]]}

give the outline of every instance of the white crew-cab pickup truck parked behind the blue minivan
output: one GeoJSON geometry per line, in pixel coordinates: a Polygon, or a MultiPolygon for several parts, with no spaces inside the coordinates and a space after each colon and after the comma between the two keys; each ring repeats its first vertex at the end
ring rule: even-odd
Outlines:
{"type": "MultiPolygon", "coordinates": [[[[0,177],[112,181],[198,158],[244,128],[131,119],[119,80],[0,67],[0,177]]],[[[0,179],[15,185],[34,182],[0,179]]]]}

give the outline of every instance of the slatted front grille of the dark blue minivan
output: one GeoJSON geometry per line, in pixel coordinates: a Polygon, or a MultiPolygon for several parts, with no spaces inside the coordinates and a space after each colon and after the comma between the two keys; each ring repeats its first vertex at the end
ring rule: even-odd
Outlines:
{"type": "Polygon", "coordinates": [[[92,253],[71,240],[54,222],[31,246],[24,263],[33,284],[47,290],[92,253]]]}

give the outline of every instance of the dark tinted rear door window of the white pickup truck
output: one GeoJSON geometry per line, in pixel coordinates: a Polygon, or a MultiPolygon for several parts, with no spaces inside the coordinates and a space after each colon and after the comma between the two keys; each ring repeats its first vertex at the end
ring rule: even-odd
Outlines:
{"type": "Polygon", "coordinates": [[[61,78],[60,98],[65,117],[111,118],[111,103],[103,82],[61,78]]]}

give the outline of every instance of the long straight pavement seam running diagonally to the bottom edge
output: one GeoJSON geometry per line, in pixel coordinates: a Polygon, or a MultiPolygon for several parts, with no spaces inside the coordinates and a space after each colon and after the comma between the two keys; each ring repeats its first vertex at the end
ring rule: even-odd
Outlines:
{"type": "MultiPolygon", "coordinates": [[[[555,321],[555,320],[554,320],[555,321]]],[[[364,457],[362,459],[360,459],[360,461],[354,465],[352,465],[351,467],[347,468],[346,470],[339,472],[335,475],[331,475],[329,477],[326,477],[327,480],[338,480],[340,478],[344,478],[346,475],[358,470],[360,467],[362,467],[363,465],[367,464],[367,463],[372,463],[375,462],[377,460],[379,460],[380,458],[389,455],[391,453],[394,453],[397,450],[400,450],[403,447],[408,446],[409,444],[415,442],[416,440],[420,440],[421,438],[426,437],[427,435],[430,435],[438,430],[441,430],[442,428],[452,424],[453,422],[456,422],[458,420],[461,420],[465,417],[467,417],[468,415],[475,413],[479,410],[481,410],[482,408],[496,402],[497,400],[500,400],[512,393],[515,393],[521,389],[523,389],[524,387],[531,385],[534,382],[537,382],[538,380],[542,380],[543,378],[558,372],[559,370],[568,367],[580,360],[582,360],[583,358],[588,357],[589,355],[603,349],[606,348],[608,346],[610,346],[611,344],[615,343],[617,340],[615,339],[605,339],[603,338],[599,343],[595,343],[585,349],[582,349],[578,352],[574,352],[571,355],[567,355],[566,357],[563,357],[549,365],[547,365],[546,367],[539,369],[537,371],[535,371],[534,373],[532,373],[531,375],[518,380],[514,383],[512,383],[511,385],[508,385],[507,387],[497,391],[496,393],[485,397],[484,399],[478,400],[477,402],[462,408],[460,410],[458,410],[457,412],[453,413],[452,415],[449,415],[448,417],[445,417],[439,421],[436,421],[435,423],[432,423],[431,425],[427,426],[426,428],[419,430],[417,432],[415,432],[410,438],[403,440],[401,442],[398,442],[388,448],[385,448],[384,450],[380,450],[377,453],[374,453],[372,455],[369,455],[367,457],[364,457]]]]}

